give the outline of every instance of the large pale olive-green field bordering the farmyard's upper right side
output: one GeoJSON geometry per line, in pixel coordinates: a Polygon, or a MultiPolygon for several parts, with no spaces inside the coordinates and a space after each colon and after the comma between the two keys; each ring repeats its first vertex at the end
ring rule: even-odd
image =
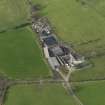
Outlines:
{"type": "Polygon", "coordinates": [[[94,9],[86,8],[76,0],[66,0],[65,2],[63,0],[33,1],[42,3],[46,7],[43,12],[49,17],[56,27],[58,35],[64,41],[72,42],[75,45],[104,36],[104,18],[101,18],[94,9]]]}

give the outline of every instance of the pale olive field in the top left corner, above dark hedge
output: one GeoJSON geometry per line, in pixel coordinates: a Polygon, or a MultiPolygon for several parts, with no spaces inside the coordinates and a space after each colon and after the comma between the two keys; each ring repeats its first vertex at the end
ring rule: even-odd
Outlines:
{"type": "Polygon", "coordinates": [[[27,0],[0,0],[0,31],[27,22],[29,6],[27,0]]]}

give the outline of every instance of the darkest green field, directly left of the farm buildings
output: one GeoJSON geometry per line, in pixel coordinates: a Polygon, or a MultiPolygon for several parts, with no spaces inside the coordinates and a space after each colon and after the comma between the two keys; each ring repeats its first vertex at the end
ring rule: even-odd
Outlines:
{"type": "Polygon", "coordinates": [[[48,76],[35,33],[28,27],[0,34],[0,73],[13,78],[48,76]]]}

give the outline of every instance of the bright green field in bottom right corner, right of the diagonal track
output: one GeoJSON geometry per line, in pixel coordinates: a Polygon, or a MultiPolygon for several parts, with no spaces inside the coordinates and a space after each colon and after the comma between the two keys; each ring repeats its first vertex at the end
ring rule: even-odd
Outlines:
{"type": "Polygon", "coordinates": [[[105,105],[105,81],[76,86],[76,94],[84,105],[105,105]]]}

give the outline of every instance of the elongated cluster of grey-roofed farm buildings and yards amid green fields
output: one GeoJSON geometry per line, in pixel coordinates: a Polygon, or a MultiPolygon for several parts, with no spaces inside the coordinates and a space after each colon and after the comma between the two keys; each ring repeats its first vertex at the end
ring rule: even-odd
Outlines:
{"type": "Polygon", "coordinates": [[[84,57],[58,41],[45,17],[33,22],[32,28],[38,33],[40,41],[43,43],[45,58],[53,70],[60,70],[61,67],[69,70],[70,67],[84,62],[84,57]]]}

